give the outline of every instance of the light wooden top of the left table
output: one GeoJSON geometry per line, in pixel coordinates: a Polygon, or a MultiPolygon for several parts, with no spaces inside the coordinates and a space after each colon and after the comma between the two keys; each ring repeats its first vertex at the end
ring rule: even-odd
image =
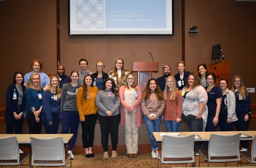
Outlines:
{"type": "Polygon", "coordinates": [[[0,137],[17,137],[19,144],[30,144],[30,138],[56,138],[56,137],[62,137],[63,142],[65,144],[68,144],[70,139],[73,137],[73,133],[70,134],[0,134],[0,137]]]}

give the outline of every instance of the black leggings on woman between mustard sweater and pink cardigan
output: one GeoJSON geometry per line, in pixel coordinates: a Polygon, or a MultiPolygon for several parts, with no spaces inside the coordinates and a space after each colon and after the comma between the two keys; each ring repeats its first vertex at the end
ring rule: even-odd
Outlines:
{"type": "Polygon", "coordinates": [[[108,152],[108,136],[111,136],[112,150],[116,150],[118,144],[118,129],[121,115],[102,116],[98,114],[101,132],[101,145],[104,152],[108,152]]]}

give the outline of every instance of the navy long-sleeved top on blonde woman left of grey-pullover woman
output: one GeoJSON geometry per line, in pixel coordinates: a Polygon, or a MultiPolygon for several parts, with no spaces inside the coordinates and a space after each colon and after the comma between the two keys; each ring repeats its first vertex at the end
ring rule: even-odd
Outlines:
{"type": "Polygon", "coordinates": [[[45,114],[48,123],[52,122],[51,113],[60,113],[60,98],[57,98],[56,94],[52,94],[50,90],[44,92],[42,113],[45,114]]]}

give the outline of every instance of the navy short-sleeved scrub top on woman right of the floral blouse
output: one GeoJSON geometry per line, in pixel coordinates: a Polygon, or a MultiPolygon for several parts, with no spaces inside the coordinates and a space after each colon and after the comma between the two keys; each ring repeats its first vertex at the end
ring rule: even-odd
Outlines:
{"type": "MultiPolygon", "coordinates": [[[[207,87],[205,87],[205,90],[207,87]]],[[[222,91],[220,90],[219,87],[216,85],[209,91],[207,92],[208,96],[208,101],[207,101],[207,107],[208,107],[208,117],[214,117],[216,114],[216,99],[222,98],[223,94],[222,91]]]]}

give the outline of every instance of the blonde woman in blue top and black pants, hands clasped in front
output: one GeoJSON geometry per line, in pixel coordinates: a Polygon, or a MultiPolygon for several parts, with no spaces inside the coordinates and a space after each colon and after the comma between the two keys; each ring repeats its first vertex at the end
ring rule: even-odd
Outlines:
{"type": "Polygon", "coordinates": [[[42,129],[42,104],[44,89],[41,88],[40,75],[30,75],[26,89],[26,113],[29,134],[40,134],[42,129]]]}

